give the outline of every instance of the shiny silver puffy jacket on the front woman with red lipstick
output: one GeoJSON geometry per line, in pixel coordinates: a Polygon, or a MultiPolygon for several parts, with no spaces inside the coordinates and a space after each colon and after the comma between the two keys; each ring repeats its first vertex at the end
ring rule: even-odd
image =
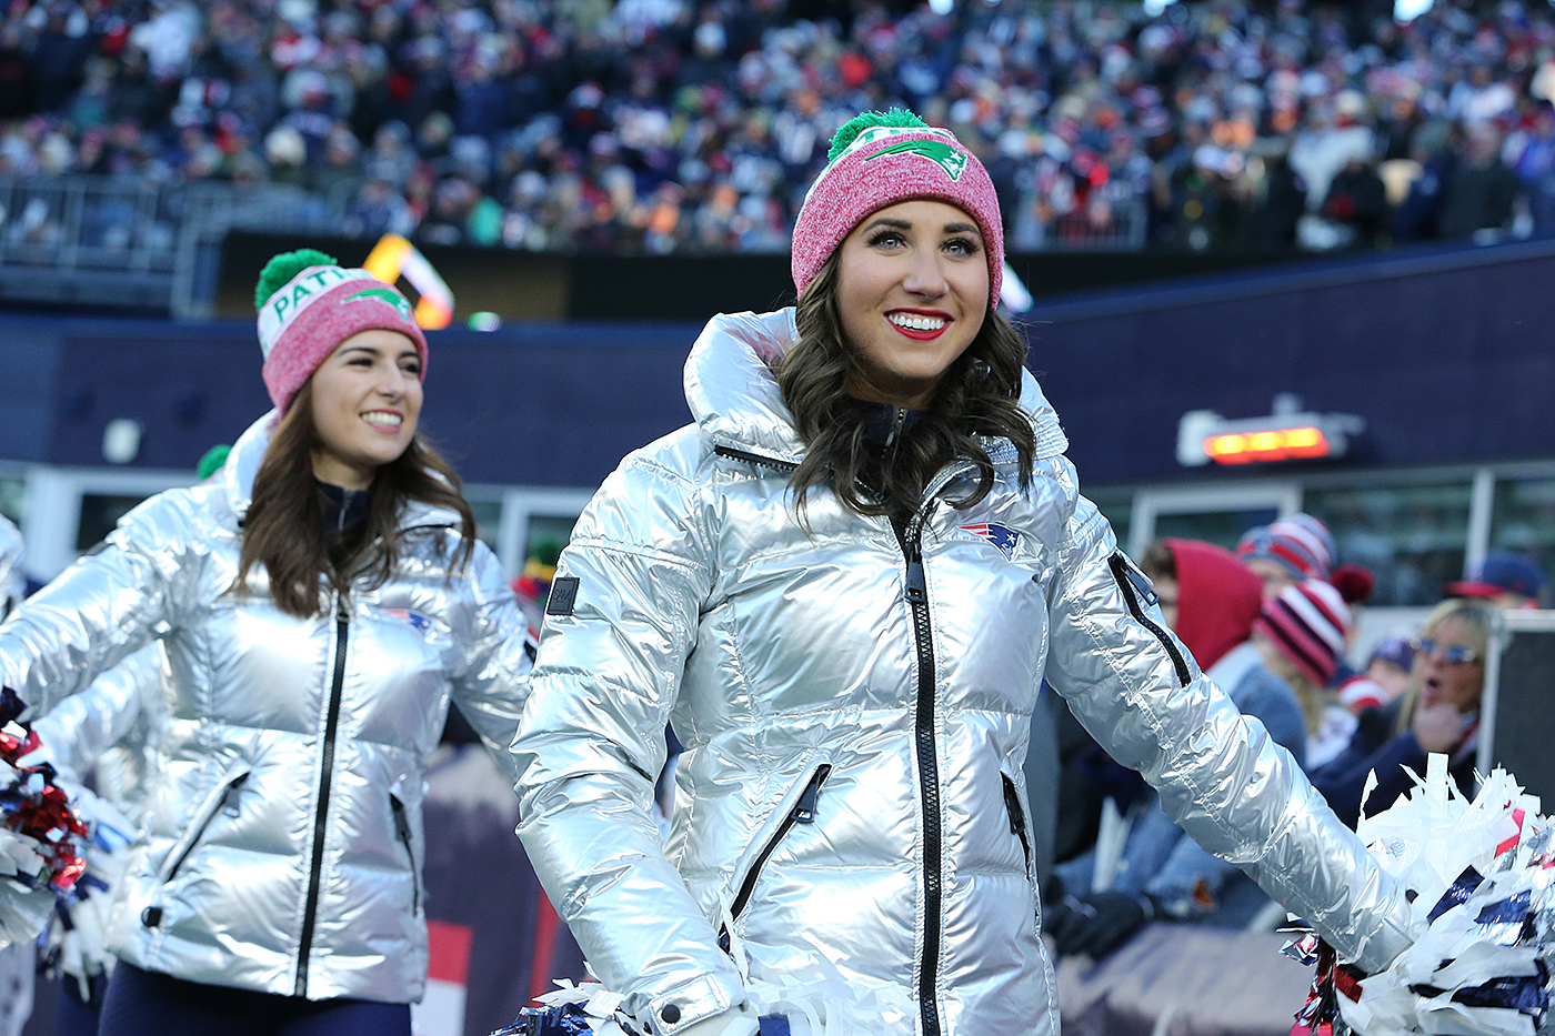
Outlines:
{"type": "Polygon", "coordinates": [[[1022,778],[1043,674],[1347,957],[1407,946],[1396,884],[1146,604],[1029,375],[1028,492],[995,443],[992,495],[956,510],[967,473],[944,471],[905,541],[829,493],[805,532],[770,373],[795,336],[791,310],[708,325],[695,425],[628,456],[561,555],[513,745],[524,845],[628,1011],[676,1033],[742,1002],[739,943],[751,978],[826,958],[894,988],[911,1008],[880,1033],[1056,1030],[1022,778]],[[686,754],[661,845],[666,720],[686,754]]]}

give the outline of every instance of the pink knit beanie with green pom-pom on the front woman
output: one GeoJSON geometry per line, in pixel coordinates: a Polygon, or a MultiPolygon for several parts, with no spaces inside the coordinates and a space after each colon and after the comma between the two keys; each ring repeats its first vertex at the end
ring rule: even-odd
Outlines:
{"type": "Polygon", "coordinates": [[[829,163],[804,196],[793,227],[793,286],[804,294],[826,260],[877,208],[933,198],[964,208],[983,232],[989,305],[1005,280],[1005,224],[994,182],[949,129],[894,107],[865,112],[832,137],[829,163]]]}

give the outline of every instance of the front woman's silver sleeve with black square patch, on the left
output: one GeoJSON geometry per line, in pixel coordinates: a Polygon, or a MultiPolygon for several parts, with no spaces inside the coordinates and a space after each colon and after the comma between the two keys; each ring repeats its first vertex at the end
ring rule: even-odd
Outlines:
{"type": "Polygon", "coordinates": [[[664,728],[711,588],[711,534],[681,473],[634,454],[563,551],[513,753],[546,893],[624,1008],[680,1033],[745,1000],[653,818],[664,728]]]}

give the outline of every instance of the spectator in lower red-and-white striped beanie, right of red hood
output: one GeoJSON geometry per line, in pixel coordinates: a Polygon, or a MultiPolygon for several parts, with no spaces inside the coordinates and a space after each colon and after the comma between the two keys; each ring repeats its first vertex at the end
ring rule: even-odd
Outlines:
{"type": "Polygon", "coordinates": [[[1284,586],[1253,619],[1253,644],[1264,664],[1284,677],[1302,703],[1308,770],[1339,754],[1354,734],[1354,714],[1328,688],[1348,632],[1350,605],[1320,579],[1284,586]]]}

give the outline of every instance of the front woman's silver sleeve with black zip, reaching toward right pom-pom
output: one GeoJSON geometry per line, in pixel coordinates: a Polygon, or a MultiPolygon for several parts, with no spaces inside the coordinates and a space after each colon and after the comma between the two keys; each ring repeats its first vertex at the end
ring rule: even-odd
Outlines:
{"type": "Polygon", "coordinates": [[[1404,888],[1166,630],[1149,583],[1085,499],[1048,590],[1048,681],[1199,845],[1379,971],[1412,941],[1404,888]]]}

